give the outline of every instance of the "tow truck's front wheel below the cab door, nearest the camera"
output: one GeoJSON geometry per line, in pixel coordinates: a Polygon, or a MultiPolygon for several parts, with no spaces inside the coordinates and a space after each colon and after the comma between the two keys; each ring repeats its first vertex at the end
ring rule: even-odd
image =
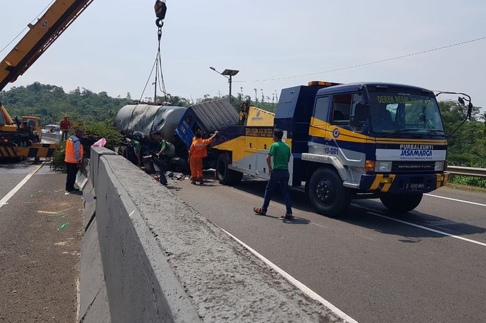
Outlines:
{"type": "Polygon", "coordinates": [[[340,176],[326,167],[316,169],[310,176],[309,198],[317,213],[328,217],[342,215],[350,201],[340,176]]]}

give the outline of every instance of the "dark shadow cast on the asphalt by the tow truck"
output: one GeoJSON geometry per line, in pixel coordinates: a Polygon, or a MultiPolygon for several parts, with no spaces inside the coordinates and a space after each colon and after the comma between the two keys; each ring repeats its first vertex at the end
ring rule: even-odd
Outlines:
{"type": "MultiPolygon", "coordinates": [[[[234,186],[234,188],[236,190],[241,190],[242,192],[247,192],[249,194],[260,196],[263,199],[266,185],[267,181],[250,178],[242,181],[239,185],[234,186]]],[[[290,197],[292,198],[292,208],[294,208],[295,210],[315,213],[314,208],[312,208],[312,206],[310,205],[308,197],[302,190],[290,190],[290,197]]],[[[284,204],[283,198],[279,191],[274,194],[272,201],[284,204]]],[[[435,233],[425,229],[417,228],[415,226],[408,226],[406,224],[400,224],[392,220],[387,220],[383,217],[378,217],[376,215],[370,214],[369,212],[374,212],[404,222],[410,222],[412,224],[418,224],[430,229],[443,231],[445,233],[453,235],[472,235],[477,233],[486,233],[486,228],[480,226],[474,226],[462,222],[455,222],[453,220],[438,217],[436,215],[421,213],[416,210],[409,213],[392,213],[387,208],[385,208],[385,206],[383,206],[383,204],[381,204],[379,201],[374,200],[353,200],[351,202],[351,206],[345,211],[344,215],[336,220],[353,224],[355,226],[362,226],[364,228],[368,228],[380,233],[399,235],[404,238],[399,241],[405,243],[420,242],[421,238],[442,238],[445,236],[442,233],[435,233]]],[[[310,223],[309,220],[305,220],[305,222],[310,223]]]]}

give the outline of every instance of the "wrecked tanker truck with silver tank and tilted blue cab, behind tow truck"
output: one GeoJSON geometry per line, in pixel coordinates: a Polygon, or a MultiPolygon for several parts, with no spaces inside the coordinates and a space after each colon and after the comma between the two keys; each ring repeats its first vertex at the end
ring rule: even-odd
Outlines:
{"type": "MultiPolygon", "coordinates": [[[[208,138],[211,133],[238,124],[239,115],[227,99],[217,99],[195,104],[189,108],[181,106],[151,106],[148,104],[122,107],[115,119],[117,129],[132,138],[135,131],[144,133],[142,156],[152,156],[158,150],[153,134],[159,132],[162,138],[174,144],[174,156],[167,156],[167,166],[181,172],[188,169],[187,155],[196,131],[208,138]]],[[[128,140],[121,149],[128,160],[136,163],[133,141],[128,140]]],[[[144,160],[149,160],[144,158],[144,160]]],[[[208,160],[212,160],[209,158],[208,160]]],[[[213,167],[214,165],[206,165],[213,167]]],[[[146,167],[151,172],[152,167],[146,167]]]]}

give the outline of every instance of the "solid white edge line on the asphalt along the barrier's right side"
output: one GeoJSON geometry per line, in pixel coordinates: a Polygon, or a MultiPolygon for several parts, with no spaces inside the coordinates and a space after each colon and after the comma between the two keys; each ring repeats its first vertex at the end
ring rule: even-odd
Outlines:
{"type": "Polygon", "coordinates": [[[293,276],[290,276],[290,274],[287,274],[287,272],[284,272],[282,269],[280,269],[280,267],[278,267],[277,265],[272,263],[270,260],[268,260],[267,258],[262,256],[261,254],[258,254],[257,251],[253,250],[251,247],[249,247],[249,245],[246,245],[244,242],[242,242],[242,240],[236,238],[234,235],[232,235],[231,233],[229,233],[225,229],[221,228],[221,226],[219,226],[219,229],[223,230],[227,235],[229,235],[231,238],[235,239],[236,242],[238,242],[240,245],[242,245],[243,247],[248,249],[252,254],[254,254],[255,256],[260,258],[260,260],[262,260],[264,263],[266,263],[267,265],[272,267],[276,272],[278,272],[278,274],[282,275],[285,279],[287,279],[287,281],[290,281],[290,283],[292,283],[297,288],[302,290],[306,295],[308,295],[308,297],[315,299],[316,301],[319,301],[319,303],[323,304],[324,306],[326,306],[327,308],[332,310],[333,313],[335,313],[335,315],[341,317],[342,320],[344,320],[344,322],[358,323],[358,321],[354,320],[352,317],[350,317],[349,315],[344,313],[342,310],[340,310],[339,308],[337,308],[333,304],[330,304],[329,301],[326,301],[326,299],[322,298],[320,295],[318,295],[316,292],[314,292],[313,290],[308,288],[306,285],[304,285],[300,281],[294,279],[293,276]]]}

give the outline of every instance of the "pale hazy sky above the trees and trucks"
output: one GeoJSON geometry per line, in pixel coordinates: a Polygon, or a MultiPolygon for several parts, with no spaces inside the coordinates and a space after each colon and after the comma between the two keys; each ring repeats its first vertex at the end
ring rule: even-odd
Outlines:
{"type": "MultiPolygon", "coordinates": [[[[51,1],[1,2],[0,49],[51,1]]],[[[5,90],[39,81],[65,91],[153,97],[153,77],[142,91],[157,51],[154,3],[94,0],[5,90]]],[[[192,99],[228,93],[228,81],[212,66],[240,70],[233,95],[254,99],[256,88],[259,101],[262,92],[271,101],[282,88],[308,81],[381,81],[464,92],[486,108],[486,39],[322,73],[483,38],[485,17],[484,0],[167,0],[162,70],[167,92],[192,99]]]]}

